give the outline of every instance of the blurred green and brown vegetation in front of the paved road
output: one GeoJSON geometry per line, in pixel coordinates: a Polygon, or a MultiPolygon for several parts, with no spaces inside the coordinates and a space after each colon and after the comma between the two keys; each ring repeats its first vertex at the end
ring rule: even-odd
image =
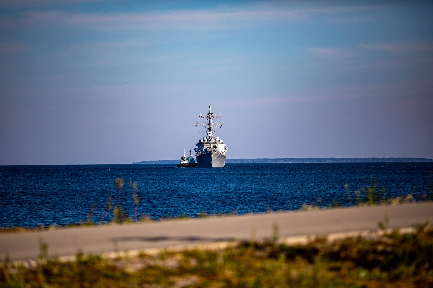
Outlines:
{"type": "Polygon", "coordinates": [[[108,259],[78,253],[26,268],[0,264],[0,287],[433,287],[433,228],[304,245],[242,242],[225,249],[108,259]]]}

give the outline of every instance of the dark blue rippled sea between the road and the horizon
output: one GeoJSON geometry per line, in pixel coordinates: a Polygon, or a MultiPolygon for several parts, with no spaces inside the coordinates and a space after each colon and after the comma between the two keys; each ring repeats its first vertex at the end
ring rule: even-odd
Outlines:
{"type": "MultiPolygon", "coordinates": [[[[355,190],[377,179],[387,198],[431,197],[433,163],[227,164],[224,168],[175,165],[0,166],[0,227],[37,227],[101,220],[110,195],[117,205],[115,179],[122,178],[123,209],[133,217],[129,181],[138,184],[138,218],[197,217],[207,214],[289,211],[301,205],[354,205],[355,190]],[[349,186],[349,195],[345,184],[349,186]],[[429,190],[430,189],[430,190],[429,190]]],[[[364,192],[363,192],[364,191],[364,192]]]]}

